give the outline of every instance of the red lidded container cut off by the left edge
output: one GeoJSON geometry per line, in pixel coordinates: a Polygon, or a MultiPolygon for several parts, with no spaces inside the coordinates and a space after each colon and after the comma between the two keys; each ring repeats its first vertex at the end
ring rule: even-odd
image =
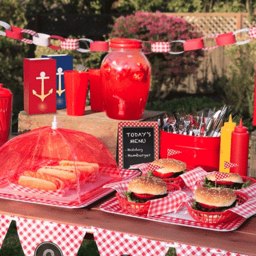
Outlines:
{"type": "Polygon", "coordinates": [[[12,110],[13,93],[0,84],[0,147],[9,139],[12,110]]]}

